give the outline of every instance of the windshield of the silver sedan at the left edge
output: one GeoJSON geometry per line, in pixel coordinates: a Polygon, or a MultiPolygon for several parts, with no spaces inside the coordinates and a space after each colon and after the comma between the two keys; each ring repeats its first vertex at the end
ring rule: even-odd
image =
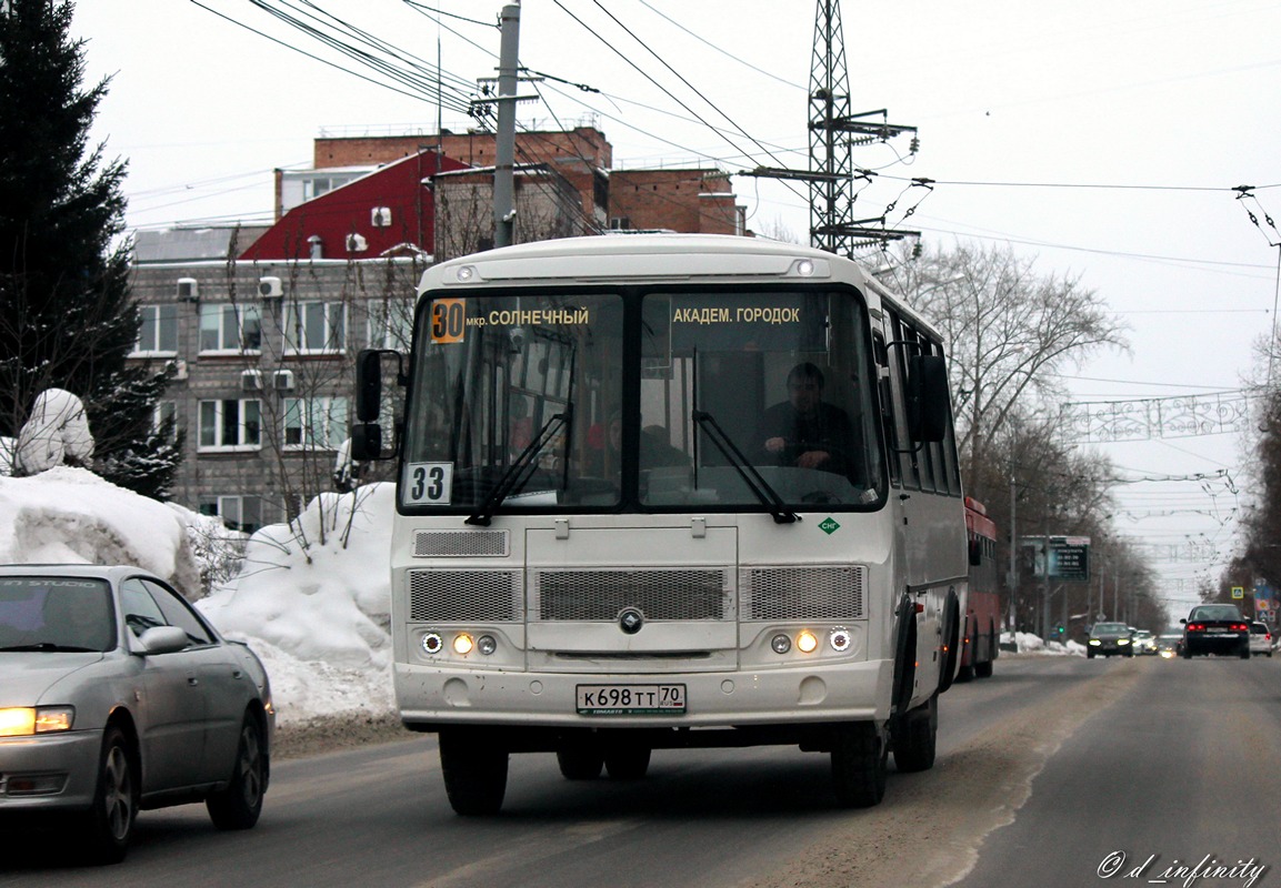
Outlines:
{"type": "Polygon", "coordinates": [[[115,610],[102,580],[0,580],[0,650],[105,651],[115,645],[115,610]]]}

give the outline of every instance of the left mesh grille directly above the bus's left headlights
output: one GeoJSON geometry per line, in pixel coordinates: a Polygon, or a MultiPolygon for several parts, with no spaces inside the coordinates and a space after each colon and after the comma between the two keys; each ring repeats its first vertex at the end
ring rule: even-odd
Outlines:
{"type": "Polygon", "coordinates": [[[520,571],[410,571],[414,622],[509,623],[524,618],[520,571]]]}

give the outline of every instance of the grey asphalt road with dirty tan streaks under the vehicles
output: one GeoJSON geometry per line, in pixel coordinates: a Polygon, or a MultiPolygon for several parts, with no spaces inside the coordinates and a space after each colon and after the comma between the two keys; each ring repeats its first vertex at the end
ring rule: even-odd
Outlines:
{"type": "Polygon", "coordinates": [[[944,695],[940,722],[935,768],[892,765],[867,811],[834,807],[826,756],[763,747],[660,751],[634,783],[514,756],[503,813],[459,818],[424,737],[278,764],[247,833],[201,806],[145,811],[109,870],[67,862],[58,837],[20,842],[0,885],[989,888],[1095,884],[1100,866],[1184,884],[1170,868],[1207,856],[1281,884],[1281,658],[1007,656],[944,695]]]}

